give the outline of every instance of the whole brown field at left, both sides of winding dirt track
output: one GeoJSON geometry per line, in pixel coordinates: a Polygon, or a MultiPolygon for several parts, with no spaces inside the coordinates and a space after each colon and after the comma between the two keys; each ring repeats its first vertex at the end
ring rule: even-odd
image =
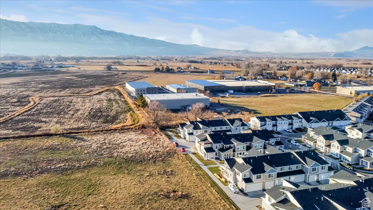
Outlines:
{"type": "Polygon", "coordinates": [[[93,93],[144,78],[117,72],[43,76],[40,72],[33,73],[25,73],[27,77],[19,73],[13,74],[14,77],[0,78],[0,117],[30,104],[30,97],[40,98],[30,110],[1,123],[2,135],[45,132],[54,124],[59,124],[62,130],[91,130],[125,123],[131,108],[119,92],[93,93]]]}

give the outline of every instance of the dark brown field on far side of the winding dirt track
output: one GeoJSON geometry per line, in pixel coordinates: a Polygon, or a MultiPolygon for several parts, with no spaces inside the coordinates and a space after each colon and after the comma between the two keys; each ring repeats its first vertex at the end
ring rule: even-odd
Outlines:
{"type": "MultiPolygon", "coordinates": [[[[127,75],[117,72],[75,72],[75,74],[40,76],[40,72],[32,71],[25,74],[28,76],[0,78],[0,117],[9,115],[29,104],[31,96],[83,94],[143,78],[141,75],[127,75]]],[[[13,76],[15,75],[24,74],[13,74],[13,76]]],[[[59,110],[62,108],[61,106],[59,110]]]]}

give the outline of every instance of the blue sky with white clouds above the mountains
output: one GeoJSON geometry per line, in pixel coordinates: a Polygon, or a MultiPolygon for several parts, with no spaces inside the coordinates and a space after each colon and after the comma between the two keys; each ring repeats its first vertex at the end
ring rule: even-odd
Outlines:
{"type": "Polygon", "coordinates": [[[373,46],[373,0],[1,0],[0,18],[95,25],[178,44],[255,52],[341,52],[373,46]]]}

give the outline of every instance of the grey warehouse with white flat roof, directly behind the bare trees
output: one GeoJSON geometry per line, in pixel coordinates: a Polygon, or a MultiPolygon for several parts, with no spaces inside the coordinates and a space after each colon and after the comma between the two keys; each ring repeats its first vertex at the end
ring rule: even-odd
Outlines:
{"type": "Polygon", "coordinates": [[[199,93],[145,94],[144,98],[148,104],[157,101],[167,109],[188,109],[197,103],[210,106],[210,98],[199,93]]]}

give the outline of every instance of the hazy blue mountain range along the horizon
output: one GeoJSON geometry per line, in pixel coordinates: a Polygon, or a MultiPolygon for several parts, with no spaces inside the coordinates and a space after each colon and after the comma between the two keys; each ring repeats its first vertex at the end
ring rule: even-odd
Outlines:
{"type": "Polygon", "coordinates": [[[82,24],[18,22],[0,19],[0,53],[24,55],[181,55],[284,58],[370,58],[373,47],[346,52],[272,53],[224,50],[107,31],[82,24]]]}

